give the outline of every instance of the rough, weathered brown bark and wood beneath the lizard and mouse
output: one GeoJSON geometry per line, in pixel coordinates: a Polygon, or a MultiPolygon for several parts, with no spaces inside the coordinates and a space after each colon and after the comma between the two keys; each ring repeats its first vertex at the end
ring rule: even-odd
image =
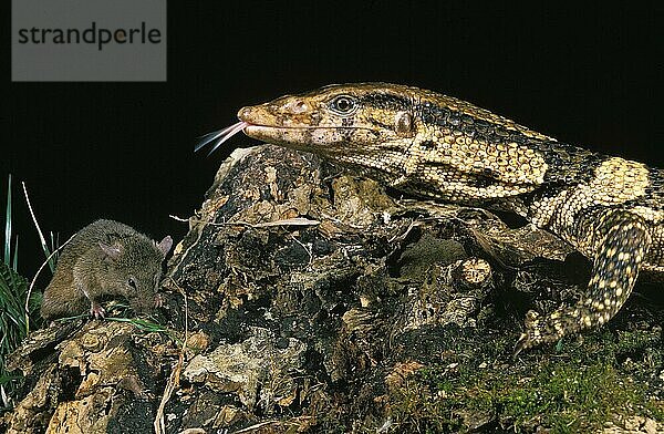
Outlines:
{"type": "MultiPolygon", "coordinates": [[[[501,388],[477,378],[537,380],[556,349],[512,361],[522,318],[573,302],[588,262],[529,225],[390,193],[309,154],[235,152],[169,261],[157,317],[168,332],[115,321],[34,332],[12,356],[27,381],[0,430],[153,432],[174,369],[168,433],[550,427],[519,418],[500,391],[458,394],[501,388]]],[[[626,409],[645,414],[635,430],[625,409],[609,412],[611,432],[662,428],[651,417],[662,410],[662,312],[637,304],[609,335],[566,343],[583,354],[612,342],[610,364],[654,405],[626,409]],[[633,333],[630,345],[620,333],[633,333]]]]}

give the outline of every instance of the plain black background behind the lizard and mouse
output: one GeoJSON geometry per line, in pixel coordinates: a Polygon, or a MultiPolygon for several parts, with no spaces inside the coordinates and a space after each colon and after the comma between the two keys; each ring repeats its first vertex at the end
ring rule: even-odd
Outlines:
{"type": "MultiPolygon", "coordinates": [[[[100,217],[177,241],[218,164],[196,137],[237,110],[330,83],[454,95],[561,141],[664,167],[662,7],[497,2],[169,1],[166,83],[11,83],[3,2],[0,210],[24,180],[45,231],[100,217]]],[[[19,188],[19,268],[43,259],[19,188]]],[[[3,214],[2,214],[3,215],[3,214]]]]}

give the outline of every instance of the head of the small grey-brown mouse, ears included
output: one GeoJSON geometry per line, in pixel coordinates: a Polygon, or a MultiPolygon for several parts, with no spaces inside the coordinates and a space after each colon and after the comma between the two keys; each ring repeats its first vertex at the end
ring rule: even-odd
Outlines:
{"type": "Polygon", "coordinates": [[[125,297],[136,312],[149,311],[159,289],[162,262],[172,246],[169,236],[158,244],[147,237],[127,237],[112,244],[100,241],[107,259],[104,292],[125,297]]]}

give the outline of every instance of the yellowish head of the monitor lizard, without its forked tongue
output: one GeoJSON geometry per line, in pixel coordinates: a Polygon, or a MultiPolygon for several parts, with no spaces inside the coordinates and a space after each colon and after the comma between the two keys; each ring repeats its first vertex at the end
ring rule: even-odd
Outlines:
{"type": "Polygon", "coordinates": [[[245,134],[338,162],[403,153],[417,133],[411,87],[330,85],[240,108],[245,134]]]}

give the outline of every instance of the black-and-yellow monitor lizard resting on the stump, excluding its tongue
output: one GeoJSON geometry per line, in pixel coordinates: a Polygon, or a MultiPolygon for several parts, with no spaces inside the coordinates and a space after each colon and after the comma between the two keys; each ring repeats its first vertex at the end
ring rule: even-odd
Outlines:
{"type": "Polygon", "coordinates": [[[251,137],[318,154],[402,192],[519,214],[591,259],[583,298],[547,316],[528,312],[516,353],[605,323],[640,269],[664,271],[660,169],[388,83],[330,85],[243,107],[238,117],[251,137]]]}

